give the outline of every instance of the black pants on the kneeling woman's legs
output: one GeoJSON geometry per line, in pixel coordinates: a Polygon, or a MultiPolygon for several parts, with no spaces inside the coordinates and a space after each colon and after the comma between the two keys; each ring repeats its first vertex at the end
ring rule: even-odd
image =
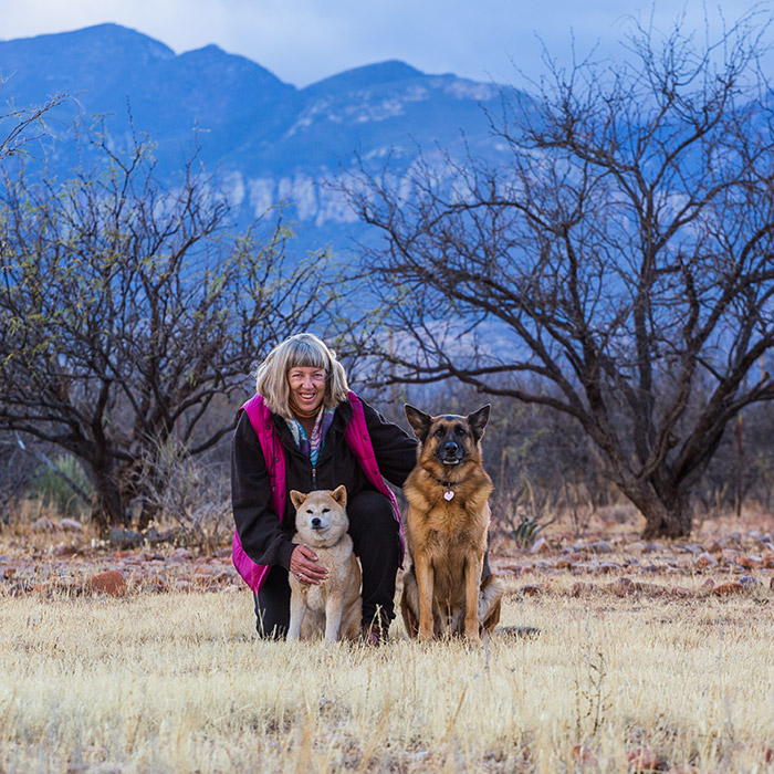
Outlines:
{"type": "MultiPolygon", "coordinates": [[[[377,614],[395,617],[393,600],[400,563],[398,522],[389,500],[379,492],[358,492],[347,502],[349,535],[363,567],[363,624],[377,614]]],[[[287,571],[273,566],[255,597],[255,628],[261,637],[284,638],[290,625],[287,571]]]]}

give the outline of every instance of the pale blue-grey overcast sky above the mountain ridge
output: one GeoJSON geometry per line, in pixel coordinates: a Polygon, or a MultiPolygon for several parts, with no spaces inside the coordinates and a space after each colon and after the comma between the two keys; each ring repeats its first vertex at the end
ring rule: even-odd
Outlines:
{"type": "MultiPolygon", "coordinates": [[[[731,22],[752,7],[723,0],[722,14],[731,22]]],[[[216,43],[296,86],[388,59],[519,85],[513,63],[541,72],[538,39],[559,61],[573,41],[579,56],[595,44],[618,56],[631,17],[665,30],[684,13],[703,35],[705,15],[719,28],[718,9],[712,0],[0,0],[0,39],[116,22],[178,53],[216,43]]]]}

